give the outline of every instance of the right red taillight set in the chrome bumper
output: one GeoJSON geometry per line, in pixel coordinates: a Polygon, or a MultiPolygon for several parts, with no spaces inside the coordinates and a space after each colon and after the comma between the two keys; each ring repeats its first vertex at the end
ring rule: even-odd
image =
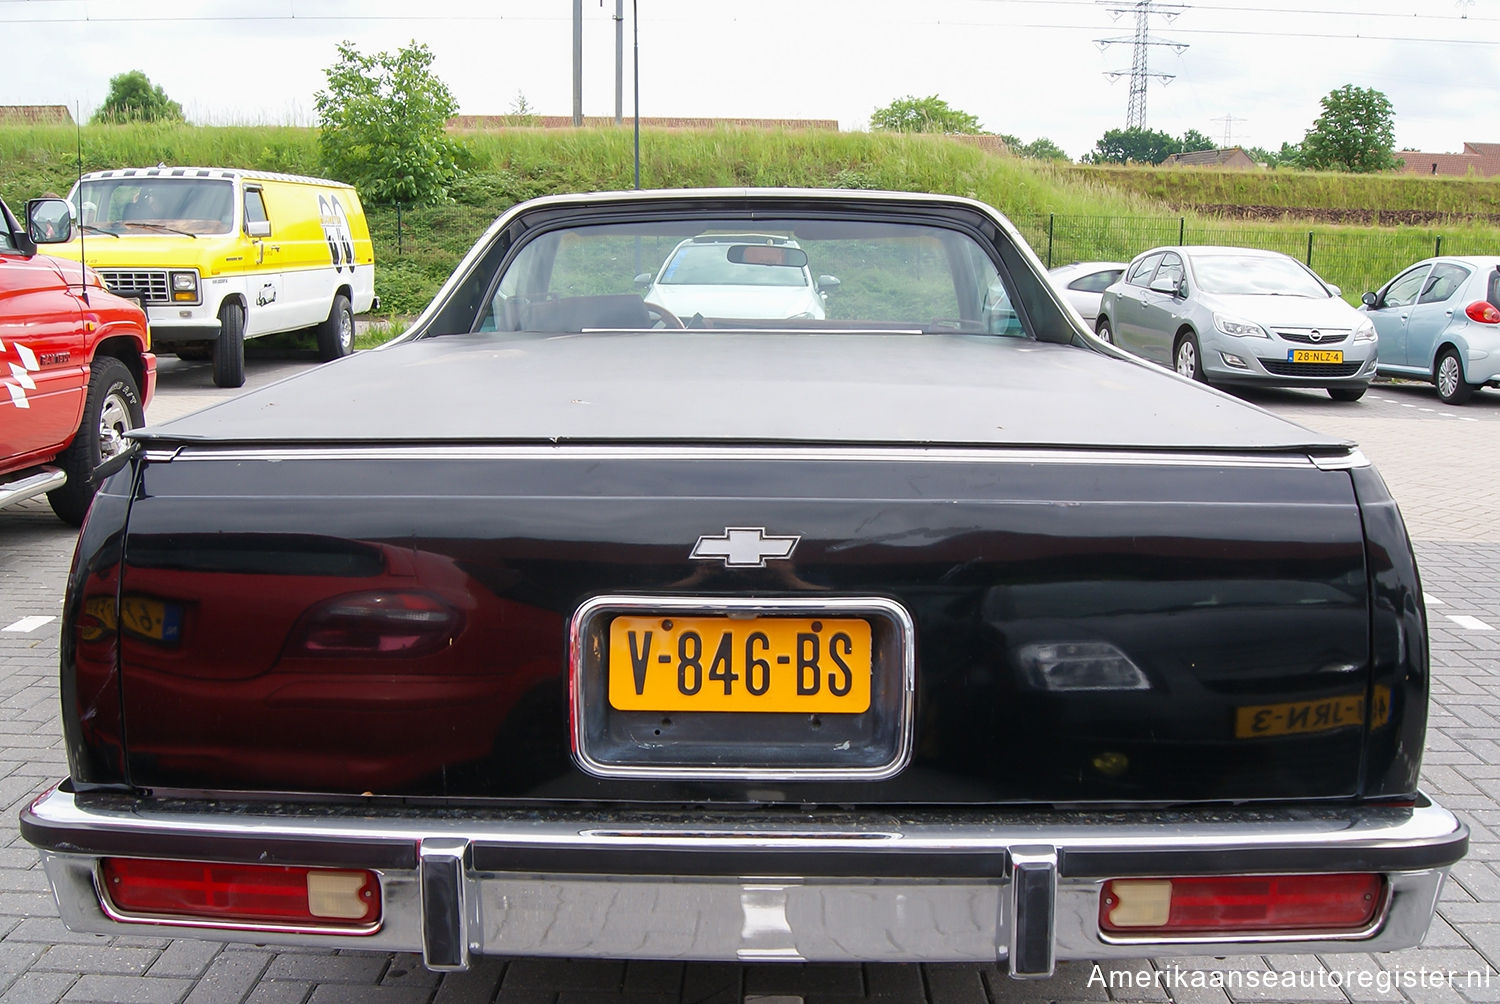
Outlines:
{"type": "Polygon", "coordinates": [[[1378,875],[1116,878],[1100,929],[1118,935],[1365,930],[1383,900],[1378,875]]]}

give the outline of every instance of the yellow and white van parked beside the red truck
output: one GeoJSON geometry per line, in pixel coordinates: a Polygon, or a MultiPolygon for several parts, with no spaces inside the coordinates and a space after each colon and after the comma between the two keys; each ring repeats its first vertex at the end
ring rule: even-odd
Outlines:
{"type": "Polygon", "coordinates": [[[316,329],[322,359],[354,347],[375,306],[375,251],[354,188],[291,174],[154,167],[94,171],[69,194],[72,242],[110,290],[146,308],[152,345],[213,359],[244,383],[244,339],[316,329]],[[81,237],[81,242],[80,242],[81,237]]]}

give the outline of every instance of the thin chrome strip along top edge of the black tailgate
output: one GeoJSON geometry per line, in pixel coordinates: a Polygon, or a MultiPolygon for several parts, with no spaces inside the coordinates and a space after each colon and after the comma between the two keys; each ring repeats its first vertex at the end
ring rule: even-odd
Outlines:
{"type": "Polygon", "coordinates": [[[171,450],[154,449],[148,459],[171,461],[490,461],[490,459],[570,459],[570,461],[879,461],[879,462],[978,462],[978,464],[1090,464],[1112,467],[1250,467],[1329,470],[1338,465],[1364,467],[1368,461],[1358,450],[1340,456],[1306,453],[1214,453],[1172,450],[1059,450],[1023,447],[882,447],[882,446],[574,446],[574,444],[470,444],[470,446],[212,446],[182,444],[171,450]],[[1358,459],[1356,459],[1358,458],[1358,459]]]}

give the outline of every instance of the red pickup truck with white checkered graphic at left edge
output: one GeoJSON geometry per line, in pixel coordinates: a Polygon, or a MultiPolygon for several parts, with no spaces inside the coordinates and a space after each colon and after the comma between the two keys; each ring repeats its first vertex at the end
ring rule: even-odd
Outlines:
{"type": "Polygon", "coordinates": [[[78,263],[38,254],[72,236],[68,203],[0,200],[0,509],[46,492],[81,524],[146,422],[156,356],[146,314],[78,263]]]}

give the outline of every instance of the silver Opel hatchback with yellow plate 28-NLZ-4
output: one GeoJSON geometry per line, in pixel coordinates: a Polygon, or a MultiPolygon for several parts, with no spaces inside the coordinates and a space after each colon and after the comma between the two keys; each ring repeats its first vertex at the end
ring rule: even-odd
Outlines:
{"type": "Polygon", "coordinates": [[[1275,251],[1154,248],[1104,291],[1095,330],[1202,383],[1359,401],[1376,375],[1376,327],[1338,293],[1275,251]]]}

